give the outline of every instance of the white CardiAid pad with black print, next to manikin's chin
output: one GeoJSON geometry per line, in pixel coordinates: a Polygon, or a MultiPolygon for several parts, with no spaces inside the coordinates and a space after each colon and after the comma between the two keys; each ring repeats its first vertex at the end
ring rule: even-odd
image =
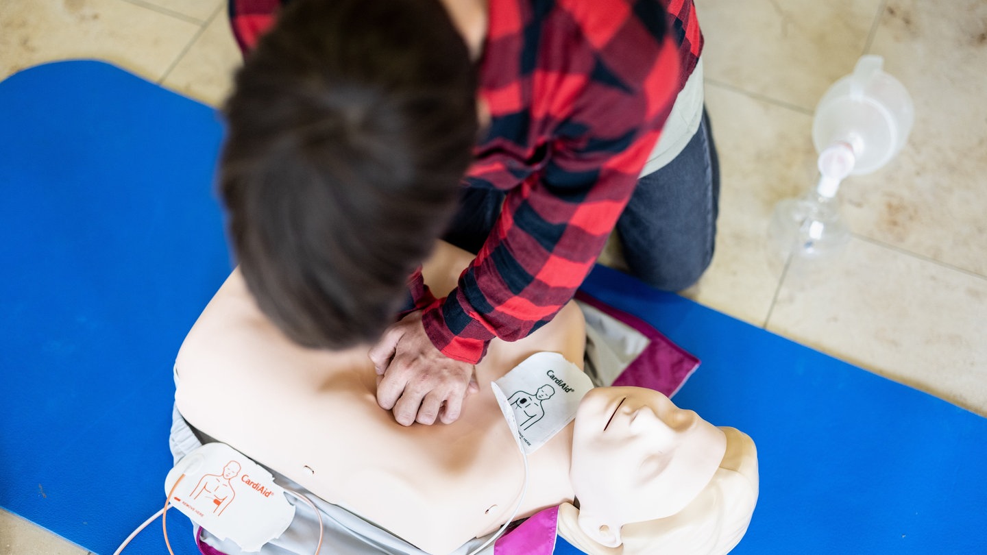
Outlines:
{"type": "Polygon", "coordinates": [[[593,384],[558,353],[536,353],[493,382],[493,395],[524,452],[531,454],[572,419],[593,384]]]}

